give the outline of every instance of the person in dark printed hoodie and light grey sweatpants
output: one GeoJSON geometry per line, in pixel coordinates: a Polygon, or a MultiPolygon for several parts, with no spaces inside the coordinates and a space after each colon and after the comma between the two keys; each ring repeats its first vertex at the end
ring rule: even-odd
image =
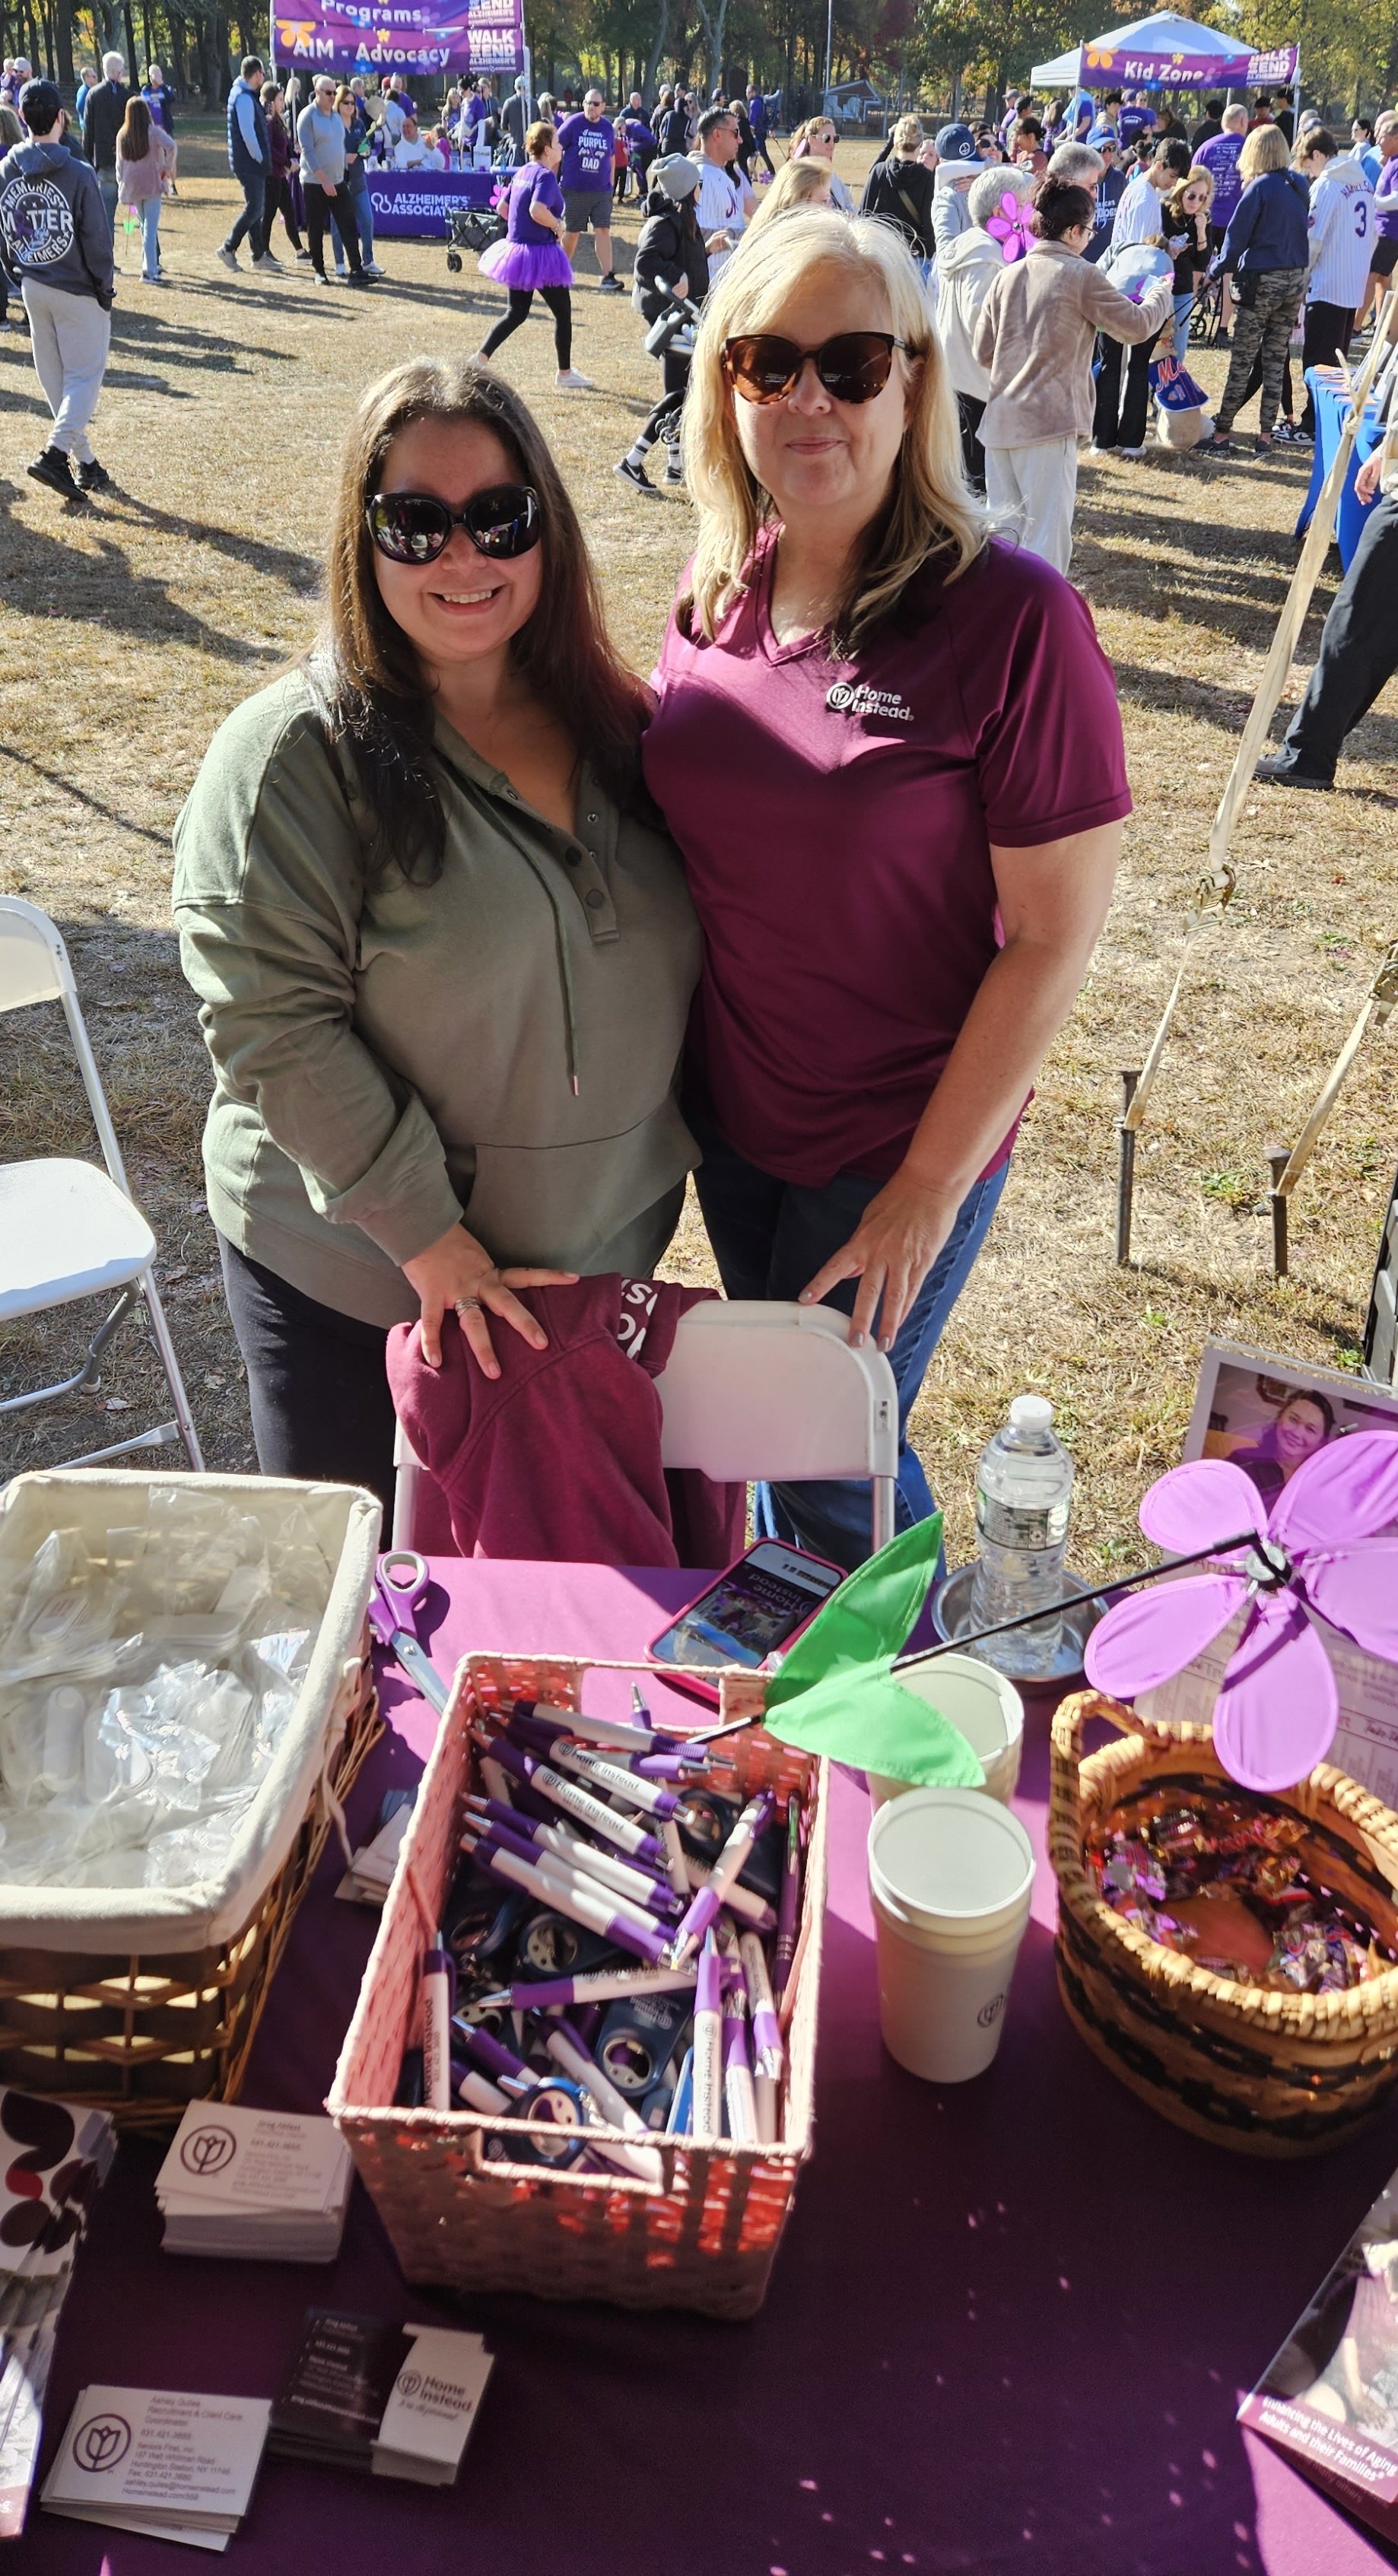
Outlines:
{"type": "Polygon", "coordinates": [[[21,281],[33,374],[54,415],[49,446],[26,471],[85,502],[111,487],[88,422],[111,348],[113,234],[98,173],[64,144],[64,103],[51,80],[23,85],[21,116],[31,142],[0,162],[0,250],[21,281]]]}

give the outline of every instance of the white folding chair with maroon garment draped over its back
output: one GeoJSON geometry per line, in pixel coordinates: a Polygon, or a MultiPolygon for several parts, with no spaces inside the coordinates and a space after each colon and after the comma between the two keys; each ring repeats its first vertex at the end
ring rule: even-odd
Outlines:
{"type": "MultiPolygon", "coordinates": [[[[716,1484],[870,1479],[870,1538],[893,1538],[899,1388],[873,1342],[832,1306],[711,1298],[680,1319],[657,1378],[664,1466],[716,1484]]],[[[417,1546],[422,1463],[399,1422],[394,1546],[417,1546]]]]}

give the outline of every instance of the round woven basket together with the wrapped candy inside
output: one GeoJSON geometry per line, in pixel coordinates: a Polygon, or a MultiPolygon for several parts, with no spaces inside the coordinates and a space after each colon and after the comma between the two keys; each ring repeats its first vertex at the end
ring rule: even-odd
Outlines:
{"type": "Polygon", "coordinates": [[[1256,1795],[1205,1726],[1053,1721],[1058,1989],[1143,2102],[1254,2156],[1341,2146],[1398,2081],[1398,1816],[1318,1765],[1256,1795]],[[1084,1726],[1120,1741],[1084,1757],[1084,1726]]]}

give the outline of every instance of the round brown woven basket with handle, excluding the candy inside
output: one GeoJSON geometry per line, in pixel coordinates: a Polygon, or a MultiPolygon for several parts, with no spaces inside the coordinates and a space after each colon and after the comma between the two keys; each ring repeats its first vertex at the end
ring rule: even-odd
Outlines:
{"type": "MultiPolygon", "coordinates": [[[[1164,1728],[1084,1690],[1053,1718],[1048,1852],[1058,1875],[1058,1989],[1086,2045],[1177,2128],[1249,2156],[1318,2156],[1362,2130],[1398,2081],[1398,1968],[1347,1994],[1272,1994],[1195,1968],[1107,1906],[1089,1829],[1143,1790],[1233,1790],[1205,1726],[1164,1728]],[[1089,1718],[1123,1741],[1084,1759],[1089,1718]]],[[[1269,1801],[1305,1824],[1308,1870],[1398,1940],[1398,1816],[1318,1765],[1269,1801]]]]}

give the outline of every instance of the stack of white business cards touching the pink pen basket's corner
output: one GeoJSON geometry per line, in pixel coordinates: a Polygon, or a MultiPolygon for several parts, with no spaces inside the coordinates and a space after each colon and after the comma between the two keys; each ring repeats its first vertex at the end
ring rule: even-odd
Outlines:
{"type": "Polygon", "coordinates": [[[332,2120],[191,2102],[154,2177],[165,2251],[335,2262],[353,2179],[332,2120]]]}

